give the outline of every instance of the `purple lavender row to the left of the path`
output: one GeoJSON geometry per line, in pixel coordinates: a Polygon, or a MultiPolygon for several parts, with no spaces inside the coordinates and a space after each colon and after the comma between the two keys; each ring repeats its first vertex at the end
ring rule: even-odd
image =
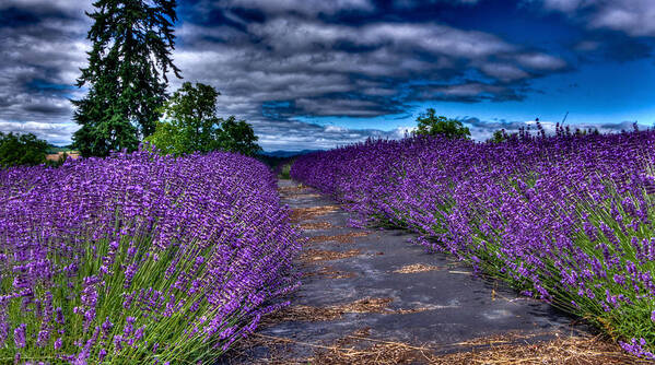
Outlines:
{"type": "Polygon", "coordinates": [[[288,214],[231,153],[0,170],[0,363],[211,363],[296,285],[288,214]]]}

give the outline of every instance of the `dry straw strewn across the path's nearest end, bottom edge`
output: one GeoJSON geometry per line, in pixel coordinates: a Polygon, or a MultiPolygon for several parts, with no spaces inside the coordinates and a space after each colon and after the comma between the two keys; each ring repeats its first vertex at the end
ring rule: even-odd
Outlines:
{"type": "Polygon", "coordinates": [[[498,337],[476,341],[482,349],[437,355],[447,348],[470,346],[470,342],[453,343],[440,349],[410,345],[402,342],[372,339],[366,329],[337,340],[318,344],[293,339],[255,334],[271,348],[280,344],[314,349],[304,360],[264,361],[260,364],[334,364],[334,365],[620,365],[651,364],[625,354],[621,349],[598,337],[560,337],[537,343],[513,343],[512,335],[503,343],[498,337]],[[486,342],[490,344],[484,346],[486,342]]]}

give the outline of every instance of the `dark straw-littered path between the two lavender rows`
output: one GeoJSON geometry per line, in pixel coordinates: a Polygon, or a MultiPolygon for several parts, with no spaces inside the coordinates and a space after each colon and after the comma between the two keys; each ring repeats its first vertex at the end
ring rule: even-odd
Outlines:
{"type": "Polygon", "coordinates": [[[303,285],[226,363],[627,363],[549,305],[424,252],[410,234],[349,227],[330,199],[279,184],[307,237],[303,285]]]}

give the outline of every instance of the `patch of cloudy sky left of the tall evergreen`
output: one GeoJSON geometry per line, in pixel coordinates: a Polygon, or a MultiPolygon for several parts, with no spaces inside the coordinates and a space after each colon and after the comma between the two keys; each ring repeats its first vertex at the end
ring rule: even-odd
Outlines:
{"type": "Polygon", "coordinates": [[[62,0],[0,3],[0,131],[70,142],[68,98],[81,95],[72,84],[85,63],[85,8],[62,0]]]}

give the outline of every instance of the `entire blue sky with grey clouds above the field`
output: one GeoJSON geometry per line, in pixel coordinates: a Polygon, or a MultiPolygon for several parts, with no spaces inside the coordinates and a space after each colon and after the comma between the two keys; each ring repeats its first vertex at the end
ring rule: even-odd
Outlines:
{"type": "MultiPolygon", "coordinates": [[[[0,131],[70,143],[89,0],[0,0],[0,131]]],[[[178,0],[175,63],[266,150],[401,138],[428,107],[484,140],[655,122],[652,0],[178,0]]]]}

